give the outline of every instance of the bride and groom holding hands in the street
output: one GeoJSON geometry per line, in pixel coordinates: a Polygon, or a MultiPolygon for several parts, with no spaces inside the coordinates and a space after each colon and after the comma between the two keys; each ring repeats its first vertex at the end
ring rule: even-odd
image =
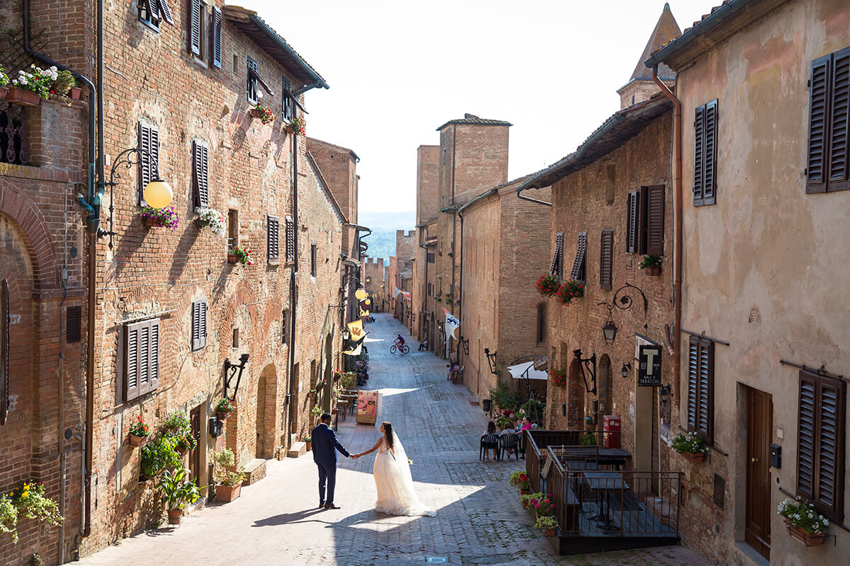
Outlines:
{"type": "Polygon", "coordinates": [[[337,434],[331,429],[331,415],[324,413],[321,422],[313,429],[313,461],[319,468],[319,507],[338,509],[333,502],[333,492],[337,484],[337,450],[343,456],[354,460],[377,450],[373,475],[377,502],[375,511],[388,515],[427,515],[433,517],[437,513],[427,509],[413,487],[411,464],[407,459],[404,446],[401,446],[399,436],[395,434],[393,425],[381,423],[381,438],[360,454],[349,454],[337,440],[337,434]],[[325,489],[327,487],[327,498],[325,489]]]}

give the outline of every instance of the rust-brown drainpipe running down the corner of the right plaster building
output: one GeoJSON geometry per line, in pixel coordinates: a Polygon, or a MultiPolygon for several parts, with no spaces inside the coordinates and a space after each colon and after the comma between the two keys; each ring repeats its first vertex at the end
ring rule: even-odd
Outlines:
{"type": "Polygon", "coordinates": [[[682,340],[679,337],[682,328],[682,103],[658,78],[657,64],[652,68],[652,80],[673,103],[673,151],[676,153],[673,162],[673,396],[679,402],[682,372],[682,340]]]}

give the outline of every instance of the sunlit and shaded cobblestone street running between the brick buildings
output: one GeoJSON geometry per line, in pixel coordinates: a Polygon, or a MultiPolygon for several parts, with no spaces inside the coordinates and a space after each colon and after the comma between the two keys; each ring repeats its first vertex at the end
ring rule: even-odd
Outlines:
{"type": "MultiPolygon", "coordinates": [[[[393,337],[406,330],[386,314],[377,315],[367,330],[369,386],[383,393],[378,420],[394,423],[414,462],[419,496],[437,510],[436,518],[388,517],[372,510],[374,454],[341,459],[335,499],[342,508],[316,509],[317,474],[308,453],[269,461],[267,478],[243,488],[235,502],[212,502],[185,517],[177,530],[133,536],[79,564],[711,564],[681,546],[555,556],[507,485],[507,474],[524,462],[479,462],[484,413],[468,403],[466,389],[445,379],[445,361],[416,351],[412,340],[409,355],[390,355],[393,337]]],[[[348,416],[338,436],[354,452],[371,447],[378,432],[348,416]]]]}

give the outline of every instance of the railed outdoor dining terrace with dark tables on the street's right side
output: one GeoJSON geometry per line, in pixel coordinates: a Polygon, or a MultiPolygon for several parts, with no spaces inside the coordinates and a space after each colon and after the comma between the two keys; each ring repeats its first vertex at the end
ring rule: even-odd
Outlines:
{"type": "MultiPolygon", "coordinates": [[[[552,494],[559,554],[600,552],[679,541],[680,472],[623,470],[627,451],[608,448],[604,435],[530,431],[526,469],[533,491],[552,494]],[[586,444],[579,439],[585,436],[586,444]]],[[[619,434],[619,433],[617,433],[619,434]]]]}

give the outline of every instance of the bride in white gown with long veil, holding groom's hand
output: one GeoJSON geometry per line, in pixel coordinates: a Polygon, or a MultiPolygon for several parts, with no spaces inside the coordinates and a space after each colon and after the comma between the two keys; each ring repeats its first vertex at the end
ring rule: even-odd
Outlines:
{"type": "Polygon", "coordinates": [[[377,502],[375,511],[388,515],[427,515],[434,517],[437,513],[427,509],[413,487],[411,464],[407,460],[405,447],[393,431],[393,425],[381,423],[381,438],[365,452],[355,454],[361,457],[377,450],[375,457],[375,489],[377,502]]]}

